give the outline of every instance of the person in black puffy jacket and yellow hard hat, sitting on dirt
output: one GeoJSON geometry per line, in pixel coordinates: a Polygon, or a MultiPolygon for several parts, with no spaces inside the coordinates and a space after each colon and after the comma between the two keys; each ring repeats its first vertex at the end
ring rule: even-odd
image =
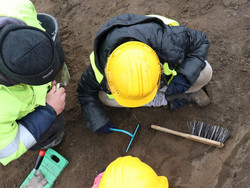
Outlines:
{"type": "Polygon", "coordinates": [[[78,84],[87,127],[109,133],[115,125],[102,103],[112,107],[210,103],[202,90],[212,77],[205,33],[157,15],[123,14],[105,23],[94,41],[91,66],[78,84]]]}

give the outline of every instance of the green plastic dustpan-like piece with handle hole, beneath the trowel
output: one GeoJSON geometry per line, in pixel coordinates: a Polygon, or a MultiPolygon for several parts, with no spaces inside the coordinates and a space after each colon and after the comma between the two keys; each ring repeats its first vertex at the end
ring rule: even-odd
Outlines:
{"type": "MultiPolygon", "coordinates": [[[[62,157],[59,153],[57,153],[53,149],[48,149],[45,153],[43,161],[38,168],[48,181],[48,183],[44,186],[44,188],[50,188],[54,185],[55,180],[61,174],[63,169],[68,165],[68,161],[62,157]]],[[[34,172],[31,171],[25,181],[22,183],[20,188],[23,188],[34,176],[34,172]]]]}

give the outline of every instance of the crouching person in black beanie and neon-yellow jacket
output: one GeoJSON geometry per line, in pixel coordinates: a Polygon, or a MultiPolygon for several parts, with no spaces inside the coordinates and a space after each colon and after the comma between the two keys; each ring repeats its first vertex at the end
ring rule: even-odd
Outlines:
{"type": "Polygon", "coordinates": [[[53,81],[62,47],[37,19],[29,0],[0,2],[0,163],[48,148],[64,135],[65,89],[53,81]],[[53,82],[52,82],[53,81],[53,82]]]}

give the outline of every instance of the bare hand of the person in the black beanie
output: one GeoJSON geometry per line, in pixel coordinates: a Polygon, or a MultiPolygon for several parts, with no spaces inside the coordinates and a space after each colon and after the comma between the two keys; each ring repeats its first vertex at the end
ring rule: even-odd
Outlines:
{"type": "Polygon", "coordinates": [[[46,102],[54,108],[56,114],[62,113],[65,107],[66,93],[64,88],[56,89],[53,85],[52,89],[47,93],[46,102]]]}

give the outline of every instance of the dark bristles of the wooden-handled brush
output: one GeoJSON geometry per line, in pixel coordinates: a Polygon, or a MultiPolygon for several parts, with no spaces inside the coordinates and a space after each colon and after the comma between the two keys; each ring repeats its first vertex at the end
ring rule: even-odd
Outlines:
{"type": "Polygon", "coordinates": [[[190,133],[199,137],[225,143],[230,136],[228,129],[209,125],[201,121],[193,121],[188,123],[190,133]]]}

